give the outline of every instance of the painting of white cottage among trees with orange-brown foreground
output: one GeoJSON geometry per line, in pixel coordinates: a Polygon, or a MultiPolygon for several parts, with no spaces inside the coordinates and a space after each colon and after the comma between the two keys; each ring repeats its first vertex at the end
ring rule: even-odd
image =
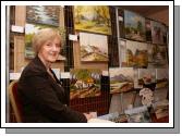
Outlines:
{"type": "Polygon", "coordinates": [[[97,97],[101,95],[101,71],[97,69],[72,69],[70,99],[97,97]]]}

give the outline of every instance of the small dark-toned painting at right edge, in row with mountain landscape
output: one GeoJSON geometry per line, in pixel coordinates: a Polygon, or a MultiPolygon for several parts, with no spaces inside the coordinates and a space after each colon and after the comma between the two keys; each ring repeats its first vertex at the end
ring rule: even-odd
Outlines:
{"type": "Polygon", "coordinates": [[[169,70],[168,69],[156,69],[156,89],[168,88],[169,84],[169,70]]]}

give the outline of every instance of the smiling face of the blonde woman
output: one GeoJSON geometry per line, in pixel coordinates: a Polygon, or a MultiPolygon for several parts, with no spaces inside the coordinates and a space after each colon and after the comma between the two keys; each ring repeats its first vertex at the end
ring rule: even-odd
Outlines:
{"type": "Polygon", "coordinates": [[[40,55],[45,62],[56,62],[60,53],[60,48],[61,45],[58,38],[54,38],[53,40],[48,40],[41,46],[38,55],[40,55]]]}

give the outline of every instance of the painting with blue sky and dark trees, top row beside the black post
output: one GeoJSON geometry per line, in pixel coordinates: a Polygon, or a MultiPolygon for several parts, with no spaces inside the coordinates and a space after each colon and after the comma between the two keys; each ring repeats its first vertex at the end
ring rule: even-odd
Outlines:
{"type": "Polygon", "coordinates": [[[145,17],[124,10],[125,38],[145,41],[145,17]]]}

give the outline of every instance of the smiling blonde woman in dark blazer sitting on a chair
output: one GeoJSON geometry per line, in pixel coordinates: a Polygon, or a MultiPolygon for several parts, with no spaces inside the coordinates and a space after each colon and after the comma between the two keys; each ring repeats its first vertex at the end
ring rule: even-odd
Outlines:
{"type": "Polygon", "coordinates": [[[66,106],[66,94],[50,69],[61,49],[59,32],[51,28],[39,30],[33,38],[33,48],[36,57],[24,69],[17,84],[23,122],[87,122],[90,114],[66,106]]]}

